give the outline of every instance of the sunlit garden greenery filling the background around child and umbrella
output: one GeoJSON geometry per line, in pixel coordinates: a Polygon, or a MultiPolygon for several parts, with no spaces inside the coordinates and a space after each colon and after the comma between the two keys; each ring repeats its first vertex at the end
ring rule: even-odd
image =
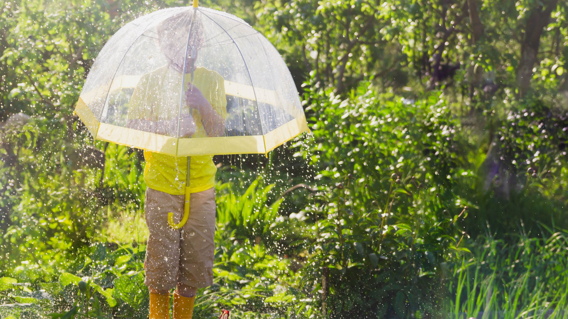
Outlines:
{"type": "MultiPolygon", "coordinates": [[[[148,316],[142,153],[73,107],[114,32],[187,5],[0,0],[1,318],[148,316]]],[[[272,41],[311,134],[215,157],[195,318],[568,317],[568,3],[200,5],[272,41]]]]}

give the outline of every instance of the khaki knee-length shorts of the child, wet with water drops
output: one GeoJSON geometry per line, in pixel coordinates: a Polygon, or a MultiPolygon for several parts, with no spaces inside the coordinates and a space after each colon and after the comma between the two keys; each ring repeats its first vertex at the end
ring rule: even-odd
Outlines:
{"type": "Polygon", "coordinates": [[[172,229],[168,212],[173,212],[174,222],[179,223],[184,200],[184,195],[146,190],[144,212],[150,236],[144,284],[148,287],[169,290],[182,283],[204,288],[213,283],[215,188],[192,193],[187,223],[172,229]]]}

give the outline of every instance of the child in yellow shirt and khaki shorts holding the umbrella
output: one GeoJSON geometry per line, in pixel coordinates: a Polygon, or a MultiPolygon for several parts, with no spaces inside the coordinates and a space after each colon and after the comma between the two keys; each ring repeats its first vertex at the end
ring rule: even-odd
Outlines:
{"type": "MultiPolygon", "coordinates": [[[[184,13],[166,19],[153,32],[166,65],[141,77],[130,100],[127,126],[173,137],[223,136],[224,79],[215,71],[194,66],[203,44],[202,24],[191,22],[191,14],[184,13]],[[186,52],[191,56],[186,57],[186,52]]],[[[189,218],[181,229],[172,229],[168,213],[173,212],[176,223],[183,215],[187,158],[149,151],[144,151],[144,158],[149,229],[144,283],[150,292],[150,319],[169,318],[173,288],[173,318],[189,319],[197,288],[211,286],[213,281],[216,167],[212,156],[191,157],[189,218]]]]}

